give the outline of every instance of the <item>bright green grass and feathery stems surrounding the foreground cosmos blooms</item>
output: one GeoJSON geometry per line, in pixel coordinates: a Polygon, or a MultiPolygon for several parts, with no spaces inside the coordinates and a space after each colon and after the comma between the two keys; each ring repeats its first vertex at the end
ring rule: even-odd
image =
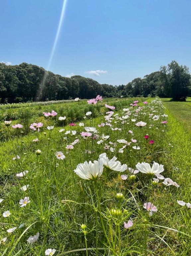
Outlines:
{"type": "MultiPolygon", "coordinates": [[[[108,125],[97,126],[105,122],[106,108],[96,119],[84,120],[85,126],[93,124],[98,130],[97,140],[84,140],[80,136],[84,127],[79,125],[64,126],[65,131],[75,130],[77,133],[74,136],[59,133],[61,127],[56,126],[53,119],[48,121],[48,124],[55,124],[51,131],[46,130],[46,122],[40,133],[31,132],[23,136],[19,131],[17,135],[11,127],[11,134],[6,131],[9,140],[0,144],[0,198],[4,199],[0,204],[0,239],[8,237],[5,243],[0,244],[2,255],[39,256],[45,255],[48,248],[55,248],[56,256],[190,255],[191,209],[181,207],[176,202],[184,200],[187,203],[191,200],[190,133],[168,108],[168,102],[164,102],[167,109],[163,109],[158,101],[152,101],[151,108],[146,105],[138,112],[137,108],[132,108],[129,117],[124,119],[126,114],[122,109],[130,107],[133,100],[128,99],[126,105],[119,104],[115,110],[122,120],[116,117],[111,120],[113,127],[121,131],[112,131],[108,125]],[[149,113],[159,114],[159,120],[154,121],[149,113]],[[161,117],[164,113],[168,114],[167,125],[161,124],[166,119],[161,117]],[[147,124],[140,128],[131,119],[147,124]],[[128,133],[129,130],[133,131],[133,135],[128,133]],[[102,134],[110,137],[98,145],[96,142],[102,134]],[[144,139],[146,134],[149,140],[154,140],[153,145],[144,139]],[[39,138],[39,142],[32,142],[36,138],[39,138]],[[76,138],[79,143],[67,153],[66,145],[76,138]],[[117,143],[118,139],[128,142],[136,139],[137,143],[132,142],[123,153],[119,153],[123,144],[117,143]],[[115,147],[114,152],[104,149],[105,144],[115,147]],[[133,149],[134,145],[140,146],[141,150],[133,149]],[[36,155],[37,149],[42,151],[39,156],[36,155]],[[56,159],[57,151],[65,155],[63,161],[56,159]],[[161,180],[153,186],[151,177],[138,173],[134,179],[128,170],[120,173],[104,168],[96,182],[83,180],[73,172],[79,163],[98,160],[104,152],[109,159],[116,156],[122,164],[132,168],[142,161],[151,165],[153,161],[163,164],[162,175],[171,178],[180,187],[165,186],[161,180]],[[15,155],[21,159],[13,161],[15,155]],[[25,170],[29,171],[25,177],[16,178],[17,173],[25,170]],[[123,181],[121,174],[127,174],[128,179],[123,181]],[[20,188],[27,184],[29,189],[22,191],[20,188]],[[117,193],[122,193],[123,199],[117,199],[117,193]],[[31,203],[21,208],[19,200],[25,196],[29,196],[31,203]],[[152,202],[158,209],[152,217],[143,208],[145,202],[152,202]],[[112,209],[119,210],[119,214],[112,214],[112,209]],[[4,218],[2,213],[7,210],[11,215],[4,218]],[[133,220],[134,225],[131,229],[125,229],[123,222],[129,219],[133,220]],[[25,225],[19,229],[22,223],[25,225]],[[81,224],[85,224],[86,228],[83,229],[81,224]],[[17,229],[8,234],[6,230],[11,227],[17,229]],[[28,244],[29,236],[37,232],[40,233],[37,242],[28,244]]],[[[143,106],[143,103],[140,105],[143,106]]]]}

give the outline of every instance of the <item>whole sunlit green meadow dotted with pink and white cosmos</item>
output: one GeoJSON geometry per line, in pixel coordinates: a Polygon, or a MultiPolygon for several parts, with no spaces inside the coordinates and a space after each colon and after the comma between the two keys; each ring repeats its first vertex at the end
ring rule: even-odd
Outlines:
{"type": "Polygon", "coordinates": [[[168,100],[1,109],[1,255],[190,255],[190,103],[168,100]]]}

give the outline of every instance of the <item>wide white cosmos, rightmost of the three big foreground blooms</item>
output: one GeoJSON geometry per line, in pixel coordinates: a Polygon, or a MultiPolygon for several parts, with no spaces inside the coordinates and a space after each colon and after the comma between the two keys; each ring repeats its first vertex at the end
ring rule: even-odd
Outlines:
{"type": "Polygon", "coordinates": [[[159,165],[158,163],[155,163],[155,162],[153,163],[152,168],[148,163],[144,163],[144,162],[142,162],[141,164],[138,163],[136,165],[136,168],[141,173],[154,174],[154,175],[162,173],[164,171],[163,165],[159,165]]]}

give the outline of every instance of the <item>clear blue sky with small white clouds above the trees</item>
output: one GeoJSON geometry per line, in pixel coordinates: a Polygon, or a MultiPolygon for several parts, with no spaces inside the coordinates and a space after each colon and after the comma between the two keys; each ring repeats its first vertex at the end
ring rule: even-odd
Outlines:
{"type": "MultiPolygon", "coordinates": [[[[0,61],[48,68],[63,0],[0,1],[0,61]]],[[[127,84],[171,60],[191,69],[190,0],[67,0],[49,70],[127,84]]]]}

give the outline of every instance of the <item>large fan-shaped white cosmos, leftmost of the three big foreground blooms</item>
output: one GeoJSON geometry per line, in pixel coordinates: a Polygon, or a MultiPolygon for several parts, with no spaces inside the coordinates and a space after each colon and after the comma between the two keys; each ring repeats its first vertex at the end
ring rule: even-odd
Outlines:
{"type": "Polygon", "coordinates": [[[98,159],[93,163],[85,161],[83,164],[78,164],[74,172],[84,180],[95,180],[103,173],[103,160],[98,159]]]}

